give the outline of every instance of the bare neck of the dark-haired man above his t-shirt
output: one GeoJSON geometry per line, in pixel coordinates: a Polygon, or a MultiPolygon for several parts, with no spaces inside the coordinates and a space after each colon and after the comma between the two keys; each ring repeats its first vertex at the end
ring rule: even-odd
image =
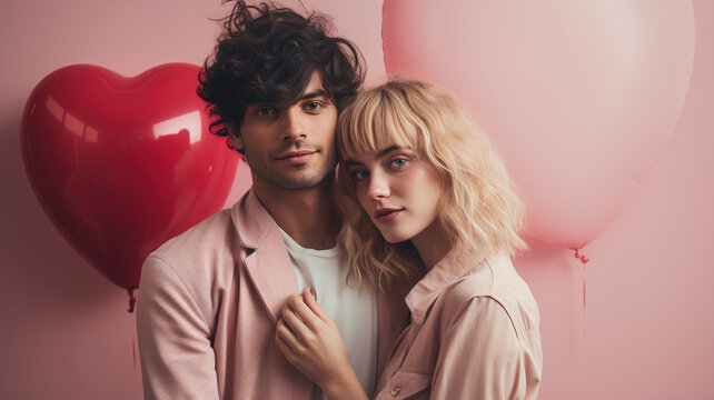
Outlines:
{"type": "Polygon", "coordinates": [[[256,178],[256,196],[292,240],[308,249],[335,247],[341,219],[333,196],[334,173],[317,187],[303,190],[282,189],[256,178]]]}

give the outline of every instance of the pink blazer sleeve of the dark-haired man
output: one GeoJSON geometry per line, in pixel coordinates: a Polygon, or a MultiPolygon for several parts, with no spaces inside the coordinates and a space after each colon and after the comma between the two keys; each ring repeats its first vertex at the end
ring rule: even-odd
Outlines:
{"type": "Polygon", "coordinates": [[[171,267],[153,256],[141,271],[137,332],[146,400],[218,400],[208,323],[171,267]]]}

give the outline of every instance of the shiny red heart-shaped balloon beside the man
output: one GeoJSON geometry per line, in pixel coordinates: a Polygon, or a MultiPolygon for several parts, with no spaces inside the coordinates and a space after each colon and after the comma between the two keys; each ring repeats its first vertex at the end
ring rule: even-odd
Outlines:
{"type": "Polygon", "coordinates": [[[149,252],[221,208],[238,157],[211,134],[199,67],[70,66],[32,91],[22,153],[40,203],[95,268],[137,288],[149,252]]]}

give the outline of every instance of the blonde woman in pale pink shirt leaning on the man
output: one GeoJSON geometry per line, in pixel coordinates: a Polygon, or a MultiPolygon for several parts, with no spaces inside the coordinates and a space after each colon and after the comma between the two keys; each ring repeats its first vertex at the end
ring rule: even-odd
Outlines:
{"type": "MultiPolygon", "coordinates": [[[[350,278],[418,281],[375,398],[535,399],[538,308],[509,259],[525,248],[523,206],[487,138],[445,92],[393,81],[343,112],[337,146],[350,278]]],[[[366,399],[334,323],[300,300],[278,347],[327,398],[366,399]]]]}

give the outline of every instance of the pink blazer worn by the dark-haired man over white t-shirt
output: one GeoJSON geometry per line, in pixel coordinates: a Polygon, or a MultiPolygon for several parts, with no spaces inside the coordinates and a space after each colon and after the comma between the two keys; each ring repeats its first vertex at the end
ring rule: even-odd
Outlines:
{"type": "MultiPolygon", "coordinates": [[[[252,191],[166,242],[143,264],[137,306],[146,400],[311,399],[315,384],[275,346],[295,292],[282,237],[252,191]]],[[[405,294],[377,294],[377,373],[407,323],[405,294]]]]}

